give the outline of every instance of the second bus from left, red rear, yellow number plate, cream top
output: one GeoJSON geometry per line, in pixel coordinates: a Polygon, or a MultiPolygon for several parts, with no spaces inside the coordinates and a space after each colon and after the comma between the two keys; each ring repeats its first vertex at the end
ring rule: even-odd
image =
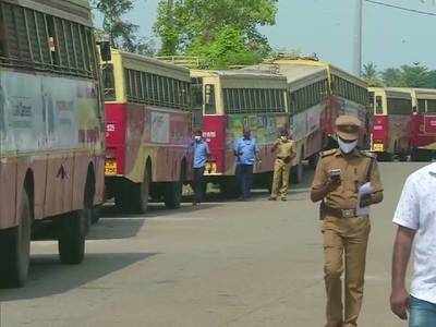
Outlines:
{"type": "Polygon", "coordinates": [[[178,208],[193,157],[190,71],[112,50],[102,72],[107,196],[124,211],[146,211],[149,198],[178,208]]]}

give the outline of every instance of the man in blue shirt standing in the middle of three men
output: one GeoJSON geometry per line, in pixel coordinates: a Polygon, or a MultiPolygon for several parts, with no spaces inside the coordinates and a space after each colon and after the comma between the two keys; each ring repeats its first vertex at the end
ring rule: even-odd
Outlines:
{"type": "Polygon", "coordinates": [[[234,156],[241,199],[246,201],[251,197],[254,164],[259,161],[256,140],[252,138],[250,129],[244,128],[243,136],[235,142],[234,156]]]}

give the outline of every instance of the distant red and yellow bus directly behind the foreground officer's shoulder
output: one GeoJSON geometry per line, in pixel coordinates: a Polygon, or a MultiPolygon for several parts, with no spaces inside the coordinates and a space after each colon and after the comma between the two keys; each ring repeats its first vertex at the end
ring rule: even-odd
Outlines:
{"type": "Polygon", "coordinates": [[[411,145],[411,89],[371,87],[370,104],[374,114],[371,150],[380,160],[391,160],[393,156],[405,160],[411,145]]]}

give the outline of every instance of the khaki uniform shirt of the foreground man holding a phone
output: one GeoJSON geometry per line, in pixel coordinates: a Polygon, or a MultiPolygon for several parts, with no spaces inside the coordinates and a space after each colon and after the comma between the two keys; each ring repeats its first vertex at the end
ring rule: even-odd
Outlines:
{"type": "Polygon", "coordinates": [[[358,191],[367,182],[367,170],[371,161],[374,161],[370,178],[374,193],[383,192],[378,166],[375,158],[370,154],[354,150],[351,157],[344,157],[339,149],[322,154],[316,167],[312,190],[318,190],[327,183],[329,171],[341,170],[341,183],[335,191],[328,193],[325,203],[329,207],[339,209],[353,209],[358,205],[358,191]]]}

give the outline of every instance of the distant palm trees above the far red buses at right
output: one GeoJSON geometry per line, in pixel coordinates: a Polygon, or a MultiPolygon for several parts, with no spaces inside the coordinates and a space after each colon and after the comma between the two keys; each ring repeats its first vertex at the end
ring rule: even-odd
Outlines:
{"type": "Polygon", "coordinates": [[[370,62],[363,66],[362,75],[371,86],[436,88],[436,71],[420,63],[388,68],[379,72],[370,62]]]}

